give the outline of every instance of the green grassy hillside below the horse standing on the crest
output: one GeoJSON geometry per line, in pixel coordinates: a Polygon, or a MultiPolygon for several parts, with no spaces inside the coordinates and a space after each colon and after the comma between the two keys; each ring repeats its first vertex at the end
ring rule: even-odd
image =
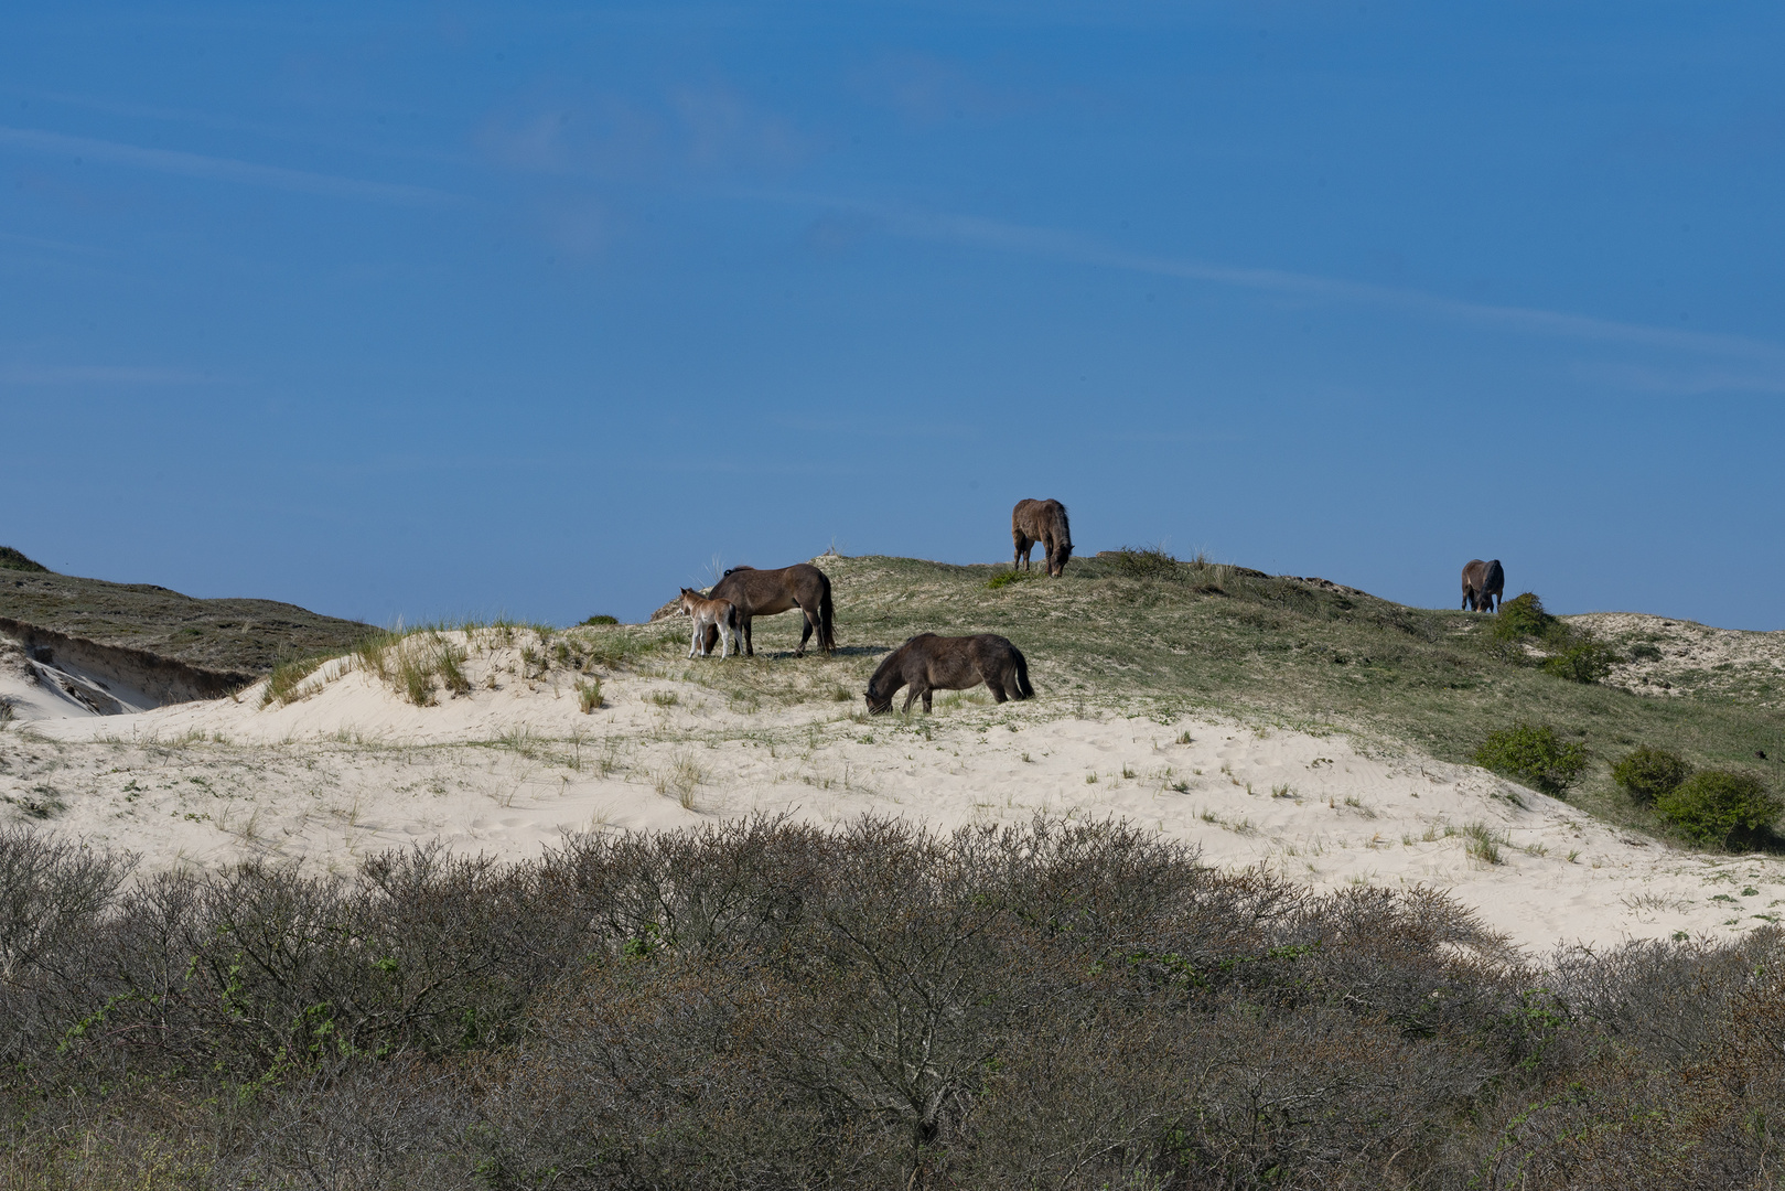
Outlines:
{"type": "MultiPolygon", "coordinates": [[[[1262,712],[1362,730],[1453,762],[1471,762],[1492,730],[1548,725],[1592,759],[1567,798],[1617,823],[1653,825],[1610,777],[1610,764],[1639,745],[1748,771],[1773,787],[1785,777],[1785,714],[1771,698],[1785,682],[1637,695],[1580,680],[1594,673],[1590,664],[1564,677],[1565,666],[1546,666],[1553,636],[1508,634],[1512,623],[1496,616],[1416,609],[1326,580],[1182,562],[1155,550],[1073,559],[1057,580],[916,559],[819,562],[835,587],[844,646],[892,646],[923,630],[998,632],[1028,655],[1048,695],[1130,711],[1157,702],[1262,712]]],[[[1619,670],[1621,655],[1599,648],[1594,618],[1576,623],[1560,629],[1574,639],[1567,652],[1619,670]]],[[[1776,634],[1744,636],[1765,637],[1771,648],[1776,634]]]]}

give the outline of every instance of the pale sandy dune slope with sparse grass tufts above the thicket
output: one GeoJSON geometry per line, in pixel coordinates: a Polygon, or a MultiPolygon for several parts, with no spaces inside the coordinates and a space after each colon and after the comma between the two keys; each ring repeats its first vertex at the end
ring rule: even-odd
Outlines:
{"type": "Polygon", "coordinates": [[[1073,714],[1048,696],[992,707],[984,695],[942,700],[930,720],[862,721],[859,702],[739,711],[696,682],[635,675],[605,677],[605,705],[584,714],[573,675],[527,680],[518,648],[469,645],[473,689],[430,707],[341,661],[284,707],[262,709],[250,687],[14,723],[0,732],[0,820],[132,848],[152,866],[343,866],[419,839],[530,855],[564,830],[753,811],[939,827],[1123,816],[1221,866],[1319,887],[1439,886],[1537,950],[1724,936],[1785,912],[1780,861],[1674,852],[1482,770],[1337,734],[1073,714]],[[1499,839],[1498,864],[1465,848],[1471,823],[1499,839]]]}

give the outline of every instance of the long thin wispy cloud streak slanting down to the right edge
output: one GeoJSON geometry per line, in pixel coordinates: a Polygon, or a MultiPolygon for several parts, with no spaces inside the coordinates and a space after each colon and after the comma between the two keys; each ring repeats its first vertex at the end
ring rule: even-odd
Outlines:
{"type": "Polygon", "coordinates": [[[1160,257],[1114,248],[1103,241],[1076,232],[1026,227],[1021,223],[1005,223],[1001,220],[987,220],[946,211],[921,211],[892,204],[846,198],[839,200],[826,195],[800,195],[785,191],[753,191],[753,196],[787,205],[809,205],[828,211],[855,212],[859,216],[871,218],[880,229],[891,234],[912,239],[971,245],[998,252],[1069,261],[1073,264],[1112,268],[1130,273],[1150,273],[1155,277],[1176,277],[1183,280],[1212,282],[1239,289],[1294,295],[1324,302],[1382,305],[1424,316],[1448,318],[1485,327],[1503,327],[1507,330],[1523,330],[1528,334],[1542,334],[1560,339],[1628,343],[1633,346],[1665,348],[1674,352],[1690,352],[1696,355],[1748,359],[1780,371],[1773,377],[1749,377],[1744,387],[1785,386],[1785,346],[1767,343],[1764,339],[1676,330],[1673,327],[1651,327],[1644,323],[1624,323],[1610,318],[1544,311],[1539,307],[1467,302],[1423,289],[1376,286],[1369,282],[1321,277],[1317,273],[1248,268],[1196,261],[1189,257],[1160,257]]]}

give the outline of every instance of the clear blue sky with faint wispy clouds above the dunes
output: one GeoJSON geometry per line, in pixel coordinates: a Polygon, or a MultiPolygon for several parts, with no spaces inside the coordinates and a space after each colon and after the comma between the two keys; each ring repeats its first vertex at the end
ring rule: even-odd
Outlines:
{"type": "Polygon", "coordinates": [[[1057,496],[1785,627],[1776,5],[369,7],[0,18],[0,543],[566,623],[1057,496]]]}

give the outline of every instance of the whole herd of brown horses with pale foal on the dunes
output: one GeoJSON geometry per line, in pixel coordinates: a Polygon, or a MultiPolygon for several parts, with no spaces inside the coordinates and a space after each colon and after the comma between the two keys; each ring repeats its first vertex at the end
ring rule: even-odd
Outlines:
{"type": "MultiPolygon", "coordinates": [[[[1030,570],[1030,554],[1041,546],[1048,577],[1059,579],[1073,557],[1073,527],[1066,518],[1066,505],[1059,500],[1016,502],[1010,511],[1010,539],[1016,543],[1010,570],[1030,570]]],[[[1507,573],[1499,559],[1489,562],[1471,559],[1462,568],[1462,605],[1469,611],[1496,611],[1505,587],[1507,573]]],[[[721,659],[730,657],[732,646],[753,657],[750,621],[789,611],[798,611],[801,616],[794,657],[805,655],[814,634],[818,648],[825,654],[837,648],[830,577],[810,562],[794,562],[778,571],[734,566],[707,595],[682,587],[682,612],[694,621],[687,655],[710,657],[712,646],[718,645],[721,659]]],[[[909,712],[919,698],[923,709],[930,711],[934,691],[964,691],[980,682],[1000,704],[1007,698],[1030,698],[1035,693],[1028,684],[1028,661],[1009,639],[994,632],[966,637],[919,632],[892,650],[868,680],[868,711],[876,716],[891,711],[900,687],[909,687],[901,711],[909,712]]]]}

